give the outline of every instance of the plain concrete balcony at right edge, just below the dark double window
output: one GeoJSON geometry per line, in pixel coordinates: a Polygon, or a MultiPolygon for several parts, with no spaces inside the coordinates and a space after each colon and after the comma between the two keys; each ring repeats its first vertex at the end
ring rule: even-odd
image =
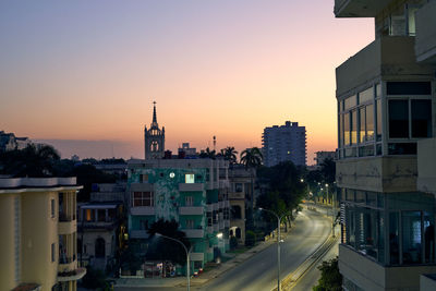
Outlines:
{"type": "Polygon", "coordinates": [[[436,194],[436,138],[417,142],[417,190],[436,194]]]}

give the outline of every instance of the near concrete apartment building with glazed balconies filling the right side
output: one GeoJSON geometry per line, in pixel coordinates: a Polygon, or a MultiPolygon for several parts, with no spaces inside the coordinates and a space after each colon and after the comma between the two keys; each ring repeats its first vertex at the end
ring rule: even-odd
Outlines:
{"type": "Polygon", "coordinates": [[[335,0],[335,15],[374,17],[376,36],[336,69],[343,288],[436,290],[420,283],[436,272],[436,2],[335,0]]]}

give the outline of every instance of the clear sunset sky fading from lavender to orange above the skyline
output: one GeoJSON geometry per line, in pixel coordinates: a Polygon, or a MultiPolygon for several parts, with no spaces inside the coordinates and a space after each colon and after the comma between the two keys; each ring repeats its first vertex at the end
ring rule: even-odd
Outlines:
{"type": "Polygon", "coordinates": [[[307,162],[337,146],[335,68],[374,39],[332,0],[0,1],[0,130],[69,158],[143,158],[166,147],[262,146],[306,128],[307,162]]]}

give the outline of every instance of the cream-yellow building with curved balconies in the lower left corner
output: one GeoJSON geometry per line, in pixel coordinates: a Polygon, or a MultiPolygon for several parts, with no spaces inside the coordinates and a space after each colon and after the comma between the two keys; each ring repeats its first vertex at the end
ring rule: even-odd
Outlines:
{"type": "Polygon", "coordinates": [[[0,290],[76,290],[75,178],[0,179],[0,290]]]}

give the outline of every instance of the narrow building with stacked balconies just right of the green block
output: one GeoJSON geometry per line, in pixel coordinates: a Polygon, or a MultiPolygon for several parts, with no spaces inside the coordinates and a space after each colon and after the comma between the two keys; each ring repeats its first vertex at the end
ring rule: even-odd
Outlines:
{"type": "MultiPolygon", "coordinates": [[[[252,198],[252,179],[255,180],[254,168],[246,169],[243,165],[233,165],[229,169],[230,182],[230,229],[229,235],[235,237],[239,243],[245,243],[245,206],[252,198]]],[[[253,197],[254,198],[254,197],[253,197]]]]}

